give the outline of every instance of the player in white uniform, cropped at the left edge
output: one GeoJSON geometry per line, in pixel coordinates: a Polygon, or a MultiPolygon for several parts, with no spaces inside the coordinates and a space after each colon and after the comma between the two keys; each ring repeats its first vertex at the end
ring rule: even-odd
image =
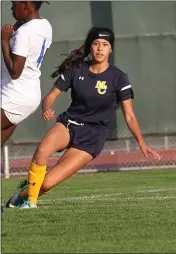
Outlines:
{"type": "Polygon", "coordinates": [[[52,27],[40,18],[46,1],[12,1],[17,23],[4,25],[1,47],[4,57],[1,80],[1,147],[17,125],[40,104],[40,66],[52,42],[52,27]]]}

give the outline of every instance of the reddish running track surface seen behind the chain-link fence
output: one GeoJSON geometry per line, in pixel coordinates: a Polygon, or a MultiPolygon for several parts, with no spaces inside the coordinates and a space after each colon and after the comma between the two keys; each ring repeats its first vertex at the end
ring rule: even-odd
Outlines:
{"type": "MultiPolygon", "coordinates": [[[[140,151],[134,152],[118,152],[114,154],[103,152],[97,158],[92,160],[85,168],[87,169],[118,169],[118,168],[130,168],[130,167],[141,167],[141,166],[174,166],[176,167],[176,149],[169,150],[157,150],[161,156],[160,161],[155,161],[149,156],[146,159],[140,151]]],[[[54,166],[58,161],[58,157],[49,159],[48,168],[54,166]]],[[[10,160],[10,171],[25,172],[29,168],[30,159],[17,159],[10,160]]],[[[1,162],[3,168],[3,161],[1,162]]]]}

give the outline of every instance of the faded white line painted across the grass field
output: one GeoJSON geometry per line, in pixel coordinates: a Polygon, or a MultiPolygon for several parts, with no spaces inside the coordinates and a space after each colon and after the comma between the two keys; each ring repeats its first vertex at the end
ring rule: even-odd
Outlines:
{"type": "Polygon", "coordinates": [[[176,188],[172,189],[146,189],[146,190],[141,190],[137,192],[132,192],[131,196],[127,196],[125,192],[119,192],[119,193],[110,193],[110,194],[100,194],[100,195],[90,195],[90,196],[72,196],[72,197],[60,197],[57,199],[42,199],[39,200],[38,202],[41,204],[48,204],[48,203],[58,203],[58,202],[73,202],[73,201],[84,201],[84,200],[105,200],[105,201],[113,201],[113,200],[128,200],[128,201],[140,201],[140,200],[165,200],[165,199],[176,199],[175,196],[144,196],[144,197],[139,197],[139,196],[134,196],[134,194],[140,194],[140,193],[158,193],[158,192],[166,192],[166,191],[174,191],[176,188]]]}

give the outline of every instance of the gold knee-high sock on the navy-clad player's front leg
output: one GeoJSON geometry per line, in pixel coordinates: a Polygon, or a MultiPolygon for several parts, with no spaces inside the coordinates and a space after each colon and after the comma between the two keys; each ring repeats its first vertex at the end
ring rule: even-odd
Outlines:
{"type": "Polygon", "coordinates": [[[27,195],[31,204],[37,203],[37,198],[40,192],[40,187],[43,183],[46,173],[46,165],[39,166],[31,162],[31,167],[28,173],[27,195]]]}

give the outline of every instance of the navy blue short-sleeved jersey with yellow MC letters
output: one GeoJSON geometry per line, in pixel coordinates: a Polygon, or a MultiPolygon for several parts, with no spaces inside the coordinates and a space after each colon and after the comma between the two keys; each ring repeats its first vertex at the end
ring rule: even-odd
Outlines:
{"type": "Polygon", "coordinates": [[[89,63],[61,74],[55,82],[60,91],[71,89],[72,102],[66,111],[72,120],[107,126],[120,101],[133,99],[127,74],[113,65],[102,73],[92,73],[89,63]]]}

